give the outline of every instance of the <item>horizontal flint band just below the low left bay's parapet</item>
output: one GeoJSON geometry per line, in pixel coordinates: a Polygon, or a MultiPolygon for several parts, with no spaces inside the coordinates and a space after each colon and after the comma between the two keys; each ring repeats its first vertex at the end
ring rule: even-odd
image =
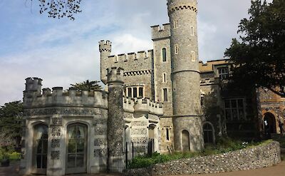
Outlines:
{"type": "Polygon", "coordinates": [[[24,110],[25,116],[31,115],[100,115],[101,112],[94,108],[35,108],[24,110]]]}

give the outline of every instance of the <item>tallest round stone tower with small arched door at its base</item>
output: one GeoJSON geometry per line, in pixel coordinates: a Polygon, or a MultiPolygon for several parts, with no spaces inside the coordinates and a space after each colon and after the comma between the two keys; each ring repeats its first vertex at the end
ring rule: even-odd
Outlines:
{"type": "Polygon", "coordinates": [[[168,0],[175,150],[202,150],[197,1],[168,0]]]}

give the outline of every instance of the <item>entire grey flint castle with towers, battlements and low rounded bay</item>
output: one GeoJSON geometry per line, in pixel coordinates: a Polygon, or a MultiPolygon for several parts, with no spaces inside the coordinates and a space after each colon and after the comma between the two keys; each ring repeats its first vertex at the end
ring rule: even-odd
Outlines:
{"type": "Polygon", "coordinates": [[[112,43],[99,42],[107,91],[42,89],[41,78],[26,78],[22,174],[97,173],[103,152],[134,141],[152,140],[157,152],[202,150],[218,135],[254,138],[265,118],[279,133],[284,98],[223,90],[228,60],[198,60],[197,1],[168,0],[167,11],[170,24],[151,27],[152,50],[111,56],[112,43]]]}

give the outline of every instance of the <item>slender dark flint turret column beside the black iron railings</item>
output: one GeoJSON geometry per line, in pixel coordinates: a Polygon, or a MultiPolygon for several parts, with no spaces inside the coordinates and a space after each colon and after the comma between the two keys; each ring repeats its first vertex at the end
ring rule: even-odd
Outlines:
{"type": "Polygon", "coordinates": [[[111,154],[123,151],[123,68],[108,68],[108,148],[111,154]]]}

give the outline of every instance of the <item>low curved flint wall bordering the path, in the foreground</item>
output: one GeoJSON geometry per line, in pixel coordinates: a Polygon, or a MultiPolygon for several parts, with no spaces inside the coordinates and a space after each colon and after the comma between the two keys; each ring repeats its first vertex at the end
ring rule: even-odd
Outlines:
{"type": "Polygon", "coordinates": [[[246,148],[219,155],[174,160],[152,167],[125,170],[125,176],[190,175],[231,172],[269,167],[281,162],[280,145],[273,141],[266,145],[246,148]]]}

